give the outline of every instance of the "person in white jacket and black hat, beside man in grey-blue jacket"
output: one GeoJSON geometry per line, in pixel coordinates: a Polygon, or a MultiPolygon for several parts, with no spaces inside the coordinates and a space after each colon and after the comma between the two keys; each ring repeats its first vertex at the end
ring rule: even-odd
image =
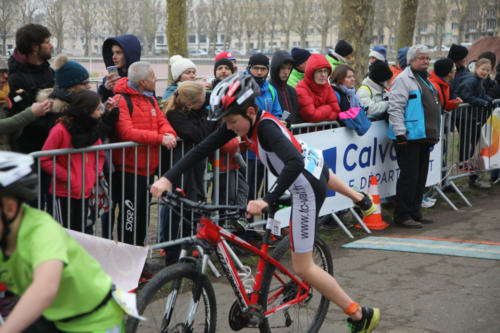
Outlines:
{"type": "Polygon", "coordinates": [[[389,108],[388,82],[392,78],[389,66],[380,60],[376,60],[370,69],[370,73],[363,80],[356,91],[356,95],[365,106],[366,115],[370,120],[386,119],[389,108]]]}

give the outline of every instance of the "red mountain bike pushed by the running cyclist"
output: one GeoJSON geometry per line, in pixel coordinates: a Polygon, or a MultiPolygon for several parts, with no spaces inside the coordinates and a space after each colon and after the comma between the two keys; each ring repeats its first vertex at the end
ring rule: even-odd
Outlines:
{"type": "MultiPolygon", "coordinates": [[[[289,204],[289,201],[289,198],[281,199],[277,204],[289,204]]],[[[218,212],[218,221],[242,218],[246,214],[245,207],[207,205],[170,192],[160,203],[175,210],[187,208],[199,216],[218,212]]],[[[271,218],[276,207],[269,209],[271,218]]],[[[229,325],[233,330],[252,327],[259,328],[260,332],[317,332],[328,311],[328,299],[293,273],[289,236],[278,242],[272,255],[268,255],[270,242],[269,228],[257,248],[202,217],[196,238],[184,243],[179,263],[161,270],[138,293],[138,310],[147,320],[129,318],[126,331],[215,332],[215,293],[206,276],[209,257],[215,253],[236,295],[229,311],[229,325]],[[230,243],[259,257],[254,275],[230,243]]],[[[318,235],[313,258],[316,264],[333,274],[330,250],[318,235]]]]}

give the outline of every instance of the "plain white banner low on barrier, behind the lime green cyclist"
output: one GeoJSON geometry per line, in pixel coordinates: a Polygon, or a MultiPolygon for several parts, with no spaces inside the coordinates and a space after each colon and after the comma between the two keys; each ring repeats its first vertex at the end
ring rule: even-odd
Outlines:
{"type": "Polygon", "coordinates": [[[117,289],[130,291],[137,288],[148,254],[146,247],[119,243],[69,229],[66,232],[97,260],[111,276],[117,289]]]}

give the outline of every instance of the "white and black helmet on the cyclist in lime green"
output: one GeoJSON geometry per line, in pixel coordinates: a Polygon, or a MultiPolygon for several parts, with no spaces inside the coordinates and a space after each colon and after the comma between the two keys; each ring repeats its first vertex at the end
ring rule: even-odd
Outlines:
{"type": "Polygon", "coordinates": [[[31,172],[33,157],[0,151],[0,197],[10,196],[22,201],[37,198],[38,179],[31,172]]]}

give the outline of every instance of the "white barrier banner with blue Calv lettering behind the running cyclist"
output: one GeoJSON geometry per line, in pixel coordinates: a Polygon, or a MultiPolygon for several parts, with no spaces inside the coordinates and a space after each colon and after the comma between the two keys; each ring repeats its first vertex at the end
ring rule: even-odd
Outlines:
{"type": "MultiPolygon", "coordinates": [[[[396,182],[399,176],[394,143],[387,137],[387,131],[387,123],[380,120],[372,122],[370,129],[363,136],[346,127],[339,127],[298,134],[295,137],[321,150],[328,167],[350,187],[367,191],[370,176],[376,175],[379,195],[385,198],[396,194],[396,182]]],[[[272,185],[276,178],[269,175],[269,184],[272,185]]],[[[426,185],[435,185],[440,180],[441,141],[431,150],[426,185]]],[[[328,191],[320,215],[352,206],[353,203],[349,198],[328,191]]],[[[289,209],[284,209],[277,214],[277,219],[284,221],[288,220],[289,216],[289,209]]]]}

